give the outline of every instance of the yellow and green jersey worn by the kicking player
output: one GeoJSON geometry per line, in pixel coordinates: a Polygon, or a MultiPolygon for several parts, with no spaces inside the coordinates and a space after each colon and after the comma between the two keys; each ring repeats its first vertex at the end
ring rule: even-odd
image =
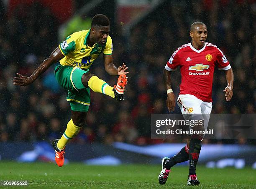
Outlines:
{"type": "Polygon", "coordinates": [[[64,42],[59,45],[59,49],[65,56],[59,62],[63,66],[78,66],[87,70],[92,62],[97,59],[101,52],[104,55],[111,55],[113,50],[112,39],[108,35],[105,44],[95,43],[92,47],[87,45],[90,30],[82,30],[69,35],[64,42]]]}

